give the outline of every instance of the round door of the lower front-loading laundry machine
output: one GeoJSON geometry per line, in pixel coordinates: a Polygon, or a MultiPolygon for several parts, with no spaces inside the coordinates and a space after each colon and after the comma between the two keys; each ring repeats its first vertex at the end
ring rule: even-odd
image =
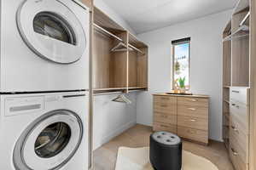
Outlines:
{"type": "Polygon", "coordinates": [[[83,126],[72,111],[51,111],[21,134],[14,150],[14,164],[22,170],[59,169],[79,148],[83,126]]]}

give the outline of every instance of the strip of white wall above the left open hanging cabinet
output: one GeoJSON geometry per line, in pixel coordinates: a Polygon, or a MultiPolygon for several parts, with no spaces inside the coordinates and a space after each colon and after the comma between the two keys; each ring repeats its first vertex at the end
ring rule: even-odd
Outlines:
{"type": "Polygon", "coordinates": [[[132,34],[136,35],[135,31],[132,30],[131,26],[119,15],[113,8],[110,8],[103,0],[94,0],[94,5],[100,8],[105,14],[117,22],[120,26],[123,26],[126,30],[131,31],[132,34]]]}

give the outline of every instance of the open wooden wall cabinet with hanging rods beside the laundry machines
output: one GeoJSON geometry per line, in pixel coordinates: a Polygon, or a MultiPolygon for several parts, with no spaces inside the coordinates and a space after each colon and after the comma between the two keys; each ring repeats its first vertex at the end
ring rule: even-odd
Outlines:
{"type": "Polygon", "coordinates": [[[92,88],[95,93],[148,89],[148,46],[94,8],[92,88]]]}

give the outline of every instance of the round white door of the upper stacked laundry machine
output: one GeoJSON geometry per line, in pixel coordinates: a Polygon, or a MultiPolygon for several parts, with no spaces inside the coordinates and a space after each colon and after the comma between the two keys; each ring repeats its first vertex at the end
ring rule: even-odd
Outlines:
{"type": "Polygon", "coordinates": [[[71,64],[84,54],[84,28],[70,8],[58,0],[26,0],[16,20],[20,36],[38,56],[71,64]]]}

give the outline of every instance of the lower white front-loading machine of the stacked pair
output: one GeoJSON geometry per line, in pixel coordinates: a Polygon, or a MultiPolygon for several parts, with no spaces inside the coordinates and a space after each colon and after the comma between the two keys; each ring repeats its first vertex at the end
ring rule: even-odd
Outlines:
{"type": "Polygon", "coordinates": [[[0,108],[0,169],[88,169],[86,92],[6,94],[0,108]]]}

